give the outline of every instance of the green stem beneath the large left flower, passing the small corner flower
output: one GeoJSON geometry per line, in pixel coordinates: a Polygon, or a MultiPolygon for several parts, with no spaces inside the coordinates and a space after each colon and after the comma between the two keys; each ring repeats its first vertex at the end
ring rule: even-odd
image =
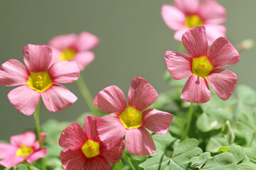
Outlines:
{"type": "MultiPolygon", "coordinates": [[[[41,99],[39,100],[38,106],[37,106],[37,108],[36,108],[36,111],[33,113],[33,115],[34,115],[34,118],[35,118],[36,133],[37,133],[37,137],[38,137],[40,149],[42,149],[42,148],[43,148],[43,142],[42,142],[42,137],[41,137],[40,123],[39,123],[39,109],[40,109],[40,103],[41,103],[41,99]]],[[[45,162],[44,158],[42,158],[41,161],[42,161],[42,168],[43,168],[43,170],[46,170],[46,162],[45,162]]]]}

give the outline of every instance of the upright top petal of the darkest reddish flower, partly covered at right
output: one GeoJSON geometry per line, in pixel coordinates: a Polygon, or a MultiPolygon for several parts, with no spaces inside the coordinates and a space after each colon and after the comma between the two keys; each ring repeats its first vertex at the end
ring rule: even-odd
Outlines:
{"type": "Polygon", "coordinates": [[[96,129],[96,116],[85,116],[85,135],[88,140],[93,140],[95,142],[101,142],[100,137],[97,134],[96,129]]]}

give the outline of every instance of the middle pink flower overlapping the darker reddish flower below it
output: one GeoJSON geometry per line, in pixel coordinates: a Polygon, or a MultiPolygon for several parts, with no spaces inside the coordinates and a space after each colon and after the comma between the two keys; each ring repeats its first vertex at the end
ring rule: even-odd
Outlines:
{"type": "Polygon", "coordinates": [[[146,108],[151,106],[158,94],[156,90],[141,77],[135,77],[129,87],[129,106],[121,89],[108,86],[100,91],[93,103],[101,111],[114,116],[104,116],[97,120],[97,132],[100,140],[112,147],[125,135],[125,147],[132,154],[152,154],[156,147],[149,129],[159,135],[169,130],[173,115],[146,108]]]}

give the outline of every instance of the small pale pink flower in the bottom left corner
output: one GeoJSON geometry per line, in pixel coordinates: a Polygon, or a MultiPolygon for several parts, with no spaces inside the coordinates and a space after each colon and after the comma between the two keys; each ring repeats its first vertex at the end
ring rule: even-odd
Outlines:
{"type": "MultiPolygon", "coordinates": [[[[42,140],[46,138],[46,133],[41,133],[42,140]]],[[[40,149],[36,134],[32,131],[24,132],[10,138],[11,144],[0,144],[0,164],[6,168],[16,166],[21,162],[32,164],[37,159],[45,157],[47,149],[40,149]]]]}

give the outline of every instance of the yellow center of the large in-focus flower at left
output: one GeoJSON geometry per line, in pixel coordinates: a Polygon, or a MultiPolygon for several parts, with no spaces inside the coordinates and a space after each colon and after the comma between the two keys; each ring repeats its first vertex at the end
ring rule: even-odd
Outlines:
{"type": "Polygon", "coordinates": [[[27,84],[36,91],[46,91],[52,85],[52,81],[48,72],[31,72],[27,84]]]}

